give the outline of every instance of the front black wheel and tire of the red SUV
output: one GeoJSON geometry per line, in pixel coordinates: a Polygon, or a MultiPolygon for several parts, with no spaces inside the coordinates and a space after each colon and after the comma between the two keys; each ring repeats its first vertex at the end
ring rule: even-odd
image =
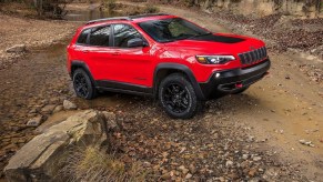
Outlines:
{"type": "Polygon", "coordinates": [[[179,73],[162,80],[159,100],[164,111],[175,119],[190,119],[202,108],[192,84],[179,73]]]}

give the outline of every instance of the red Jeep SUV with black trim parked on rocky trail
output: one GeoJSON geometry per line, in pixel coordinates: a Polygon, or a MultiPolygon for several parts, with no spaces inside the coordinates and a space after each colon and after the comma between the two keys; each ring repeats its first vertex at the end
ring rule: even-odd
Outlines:
{"type": "Polygon", "coordinates": [[[161,13],[90,21],[68,46],[78,97],[151,95],[179,119],[192,118],[205,100],[243,92],[270,64],[261,40],[212,33],[161,13]]]}

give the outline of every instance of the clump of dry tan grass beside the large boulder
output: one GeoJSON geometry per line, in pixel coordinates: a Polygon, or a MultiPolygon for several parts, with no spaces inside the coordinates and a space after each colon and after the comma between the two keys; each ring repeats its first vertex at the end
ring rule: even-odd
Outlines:
{"type": "Polygon", "coordinates": [[[113,154],[107,154],[93,146],[70,152],[63,163],[59,179],[71,182],[134,182],[145,181],[148,175],[139,163],[125,165],[113,154]]]}

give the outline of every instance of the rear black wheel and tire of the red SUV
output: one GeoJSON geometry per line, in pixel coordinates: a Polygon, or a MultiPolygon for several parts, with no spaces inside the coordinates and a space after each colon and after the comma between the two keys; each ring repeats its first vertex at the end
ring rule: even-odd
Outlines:
{"type": "Polygon", "coordinates": [[[80,98],[90,100],[97,95],[97,89],[83,69],[77,69],[73,72],[73,87],[77,95],[80,98]]]}

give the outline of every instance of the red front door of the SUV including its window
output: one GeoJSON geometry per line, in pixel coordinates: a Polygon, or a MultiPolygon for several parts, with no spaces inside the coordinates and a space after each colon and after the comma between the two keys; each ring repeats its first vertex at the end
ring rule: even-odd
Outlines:
{"type": "MultiPolygon", "coordinates": [[[[113,24],[112,80],[125,84],[151,87],[152,58],[150,47],[129,48],[128,41],[143,37],[130,24],[113,24]]],[[[143,39],[144,40],[144,39],[143,39]]],[[[107,65],[108,67],[108,65],[107,65]]]]}

